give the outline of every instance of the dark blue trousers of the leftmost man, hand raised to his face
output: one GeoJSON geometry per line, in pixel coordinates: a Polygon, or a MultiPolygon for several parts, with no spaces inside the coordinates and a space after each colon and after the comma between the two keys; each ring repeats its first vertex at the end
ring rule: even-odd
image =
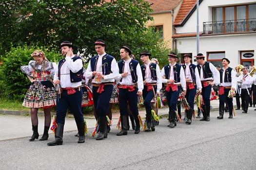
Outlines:
{"type": "Polygon", "coordinates": [[[65,117],[68,107],[70,108],[71,113],[74,115],[76,123],[83,123],[83,114],[82,114],[82,88],[76,88],[76,93],[67,94],[67,90],[62,90],[62,93],[59,98],[57,96],[57,113],[56,113],[56,122],[65,124],[65,117]],[[79,90],[80,89],[80,90],[79,90]]]}

